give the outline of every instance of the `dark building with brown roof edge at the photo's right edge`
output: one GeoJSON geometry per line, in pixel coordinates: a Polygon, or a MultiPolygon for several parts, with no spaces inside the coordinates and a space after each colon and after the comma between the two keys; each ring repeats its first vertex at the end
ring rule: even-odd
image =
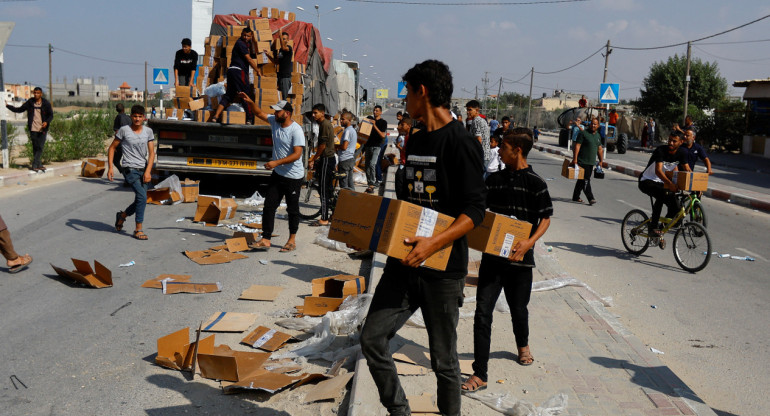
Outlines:
{"type": "Polygon", "coordinates": [[[770,78],[736,81],[733,87],[746,88],[746,132],[741,152],[770,158],[770,78]]]}

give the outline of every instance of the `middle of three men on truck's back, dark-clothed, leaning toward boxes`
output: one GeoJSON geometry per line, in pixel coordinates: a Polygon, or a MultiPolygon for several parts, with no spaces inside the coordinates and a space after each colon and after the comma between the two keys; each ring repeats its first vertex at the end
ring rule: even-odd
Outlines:
{"type": "MultiPolygon", "coordinates": [[[[230,55],[230,67],[227,68],[227,90],[225,95],[219,98],[217,111],[208,121],[217,121],[222,115],[222,111],[236,102],[241,92],[249,90],[249,67],[261,74],[257,62],[251,58],[251,38],[254,36],[248,26],[243,28],[241,38],[235,42],[233,52],[230,55]]],[[[253,93],[253,92],[252,92],[253,93]]]]}

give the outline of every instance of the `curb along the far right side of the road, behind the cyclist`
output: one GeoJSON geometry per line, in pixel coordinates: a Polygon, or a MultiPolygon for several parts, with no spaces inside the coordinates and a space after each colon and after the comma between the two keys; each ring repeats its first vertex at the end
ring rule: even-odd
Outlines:
{"type": "MultiPolygon", "coordinates": [[[[567,158],[572,157],[572,151],[568,151],[561,147],[552,146],[549,144],[535,143],[533,148],[546,153],[555,154],[557,156],[563,156],[567,158]]],[[[644,168],[629,162],[618,161],[604,161],[604,167],[619,172],[628,176],[639,177],[644,171],[644,168]]],[[[748,191],[745,189],[736,188],[727,185],[711,186],[706,192],[703,193],[709,198],[718,199],[727,203],[740,205],[742,207],[755,209],[757,211],[763,211],[770,213],[770,198],[759,192],[748,191]]]]}

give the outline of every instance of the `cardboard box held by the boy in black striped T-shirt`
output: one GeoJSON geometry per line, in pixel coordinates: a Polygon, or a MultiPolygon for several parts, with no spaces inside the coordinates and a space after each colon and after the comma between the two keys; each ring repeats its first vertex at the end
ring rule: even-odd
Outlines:
{"type": "Polygon", "coordinates": [[[494,256],[508,257],[518,241],[529,238],[532,224],[487,211],[484,220],[468,234],[468,247],[494,256]]]}

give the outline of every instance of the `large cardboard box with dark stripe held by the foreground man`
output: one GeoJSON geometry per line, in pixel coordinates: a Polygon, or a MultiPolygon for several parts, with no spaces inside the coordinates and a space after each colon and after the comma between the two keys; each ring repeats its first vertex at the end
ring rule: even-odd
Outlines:
{"type": "MultiPolygon", "coordinates": [[[[438,234],[452,222],[454,218],[449,215],[405,201],[342,190],[329,227],[329,238],[404,259],[412,250],[404,244],[405,238],[438,234]]],[[[430,256],[424,266],[445,270],[451,251],[451,244],[443,247],[430,256]]]]}

